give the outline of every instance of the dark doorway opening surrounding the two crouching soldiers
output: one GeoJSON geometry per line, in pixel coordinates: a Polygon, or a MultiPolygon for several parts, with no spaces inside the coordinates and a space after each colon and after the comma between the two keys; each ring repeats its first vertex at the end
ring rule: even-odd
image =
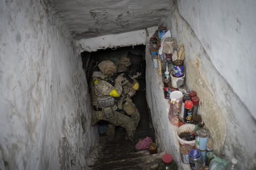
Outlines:
{"type": "MultiPolygon", "coordinates": [[[[135,132],[135,141],[145,137],[152,136],[154,138],[154,131],[151,124],[150,113],[147,108],[146,102],[146,82],[145,82],[145,45],[119,47],[116,49],[108,48],[106,50],[99,50],[97,52],[83,52],[81,53],[83,61],[83,69],[86,71],[88,85],[92,81],[92,74],[94,71],[99,71],[98,63],[104,60],[112,61],[116,66],[119,64],[121,57],[129,57],[131,59],[131,66],[129,70],[134,72],[141,72],[141,75],[136,78],[140,84],[139,90],[136,95],[132,97],[133,103],[136,105],[140,112],[140,123],[135,132]]],[[[118,110],[120,111],[120,110],[118,110]]],[[[122,111],[120,111],[122,112],[122,111]]],[[[98,122],[99,135],[102,140],[105,136],[105,128],[108,123],[104,121],[98,122]]],[[[116,128],[115,140],[125,138],[125,130],[121,127],[116,128]]]]}

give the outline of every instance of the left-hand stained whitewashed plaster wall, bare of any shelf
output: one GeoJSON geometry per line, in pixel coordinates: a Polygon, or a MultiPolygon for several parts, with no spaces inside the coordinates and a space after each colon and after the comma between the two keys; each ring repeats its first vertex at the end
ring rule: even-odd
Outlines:
{"type": "Polygon", "coordinates": [[[98,142],[81,58],[44,2],[0,2],[2,170],[81,169],[98,142]]]}

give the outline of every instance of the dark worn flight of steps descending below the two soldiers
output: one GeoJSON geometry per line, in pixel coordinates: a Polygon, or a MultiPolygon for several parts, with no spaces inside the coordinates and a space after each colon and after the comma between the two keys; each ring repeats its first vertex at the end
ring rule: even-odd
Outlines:
{"type": "Polygon", "coordinates": [[[149,151],[135,152],[129,140],[118,140],[100,144],[90,153],[87,165],[96,169],[157,169],[163,153],[150,155],[149,151]]]}

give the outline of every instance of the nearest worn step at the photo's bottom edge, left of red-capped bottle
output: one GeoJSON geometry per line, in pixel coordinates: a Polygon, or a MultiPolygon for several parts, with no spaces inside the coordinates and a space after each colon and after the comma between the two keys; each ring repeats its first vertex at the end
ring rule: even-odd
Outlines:
{"type": "MultiPolygon", "coordinates": [[[[160,160],[164,153],[160,154],[154,154],[154,155],[144,155],[136,158],[127,158],[127,159],[121,159],[116,161],[109,161],[106,163],[100,163],[97,162],[92,169],[124,169],[127,167],[127,169],[133,169],[132,167],[141,168],[142,166],[146,167],[146,164],[152,164],[155,166],[160,160]]],[[[151,165],[148,165],[148,168],[150,168],[151,165]]]]}

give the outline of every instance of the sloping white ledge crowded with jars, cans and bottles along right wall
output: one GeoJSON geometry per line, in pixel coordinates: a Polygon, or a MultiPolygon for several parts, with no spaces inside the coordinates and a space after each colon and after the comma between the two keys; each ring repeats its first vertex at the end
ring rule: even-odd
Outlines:
{"type": "Polygon", "coordinates": [[[164,27],[146,44],[147,101],[157,144],[173,155],[180,169],[224,169],[226,162],[216,161],[210,131],[197,113],[197,92],[185,86],[184,44],[177,49],[176,39],[164,27]]]}

